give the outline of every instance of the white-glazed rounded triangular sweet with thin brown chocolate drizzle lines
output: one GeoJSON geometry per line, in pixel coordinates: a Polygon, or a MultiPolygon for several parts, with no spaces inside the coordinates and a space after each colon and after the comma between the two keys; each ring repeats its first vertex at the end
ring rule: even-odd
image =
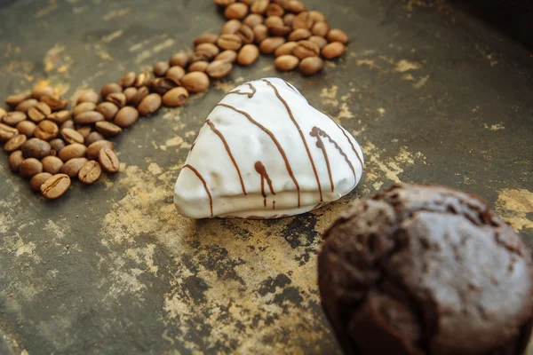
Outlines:
{"type": "Polygon", "coordinates": [[[355,138],[290,83],[230,91],[200,130],[174,203],[190,218],[287,217],[352,191],[364,161],[355,138]]]}

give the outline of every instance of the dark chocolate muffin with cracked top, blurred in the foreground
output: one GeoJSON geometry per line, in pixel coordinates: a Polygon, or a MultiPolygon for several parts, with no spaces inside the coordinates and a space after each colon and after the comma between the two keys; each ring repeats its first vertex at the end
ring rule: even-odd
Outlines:
{"type": "Polygon", "coordinates": [[[525,351],[531,252],[478,197],[393,185],[354,203],[324,239],[322,307],[346,353],[525,351]]]}

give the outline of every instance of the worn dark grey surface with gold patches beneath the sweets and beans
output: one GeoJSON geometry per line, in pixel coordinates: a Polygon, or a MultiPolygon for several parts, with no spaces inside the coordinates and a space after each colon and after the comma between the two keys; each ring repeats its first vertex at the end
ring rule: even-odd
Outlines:
{"type": "MultiPolygon", "coordinates": [[[[322,75],[282,75],[353,132],[367,161],[346,198],[272,221],[179,217],[172,187],[235,68],[187,106],[115,139],[122,171],[44,201],[0,154],[0,352],[339,353],[316,287],[321,233],[394,181],[479,193],[533,237],[529,51],[442,1],[306,0],[352,43],[322,75]]],[[[211,0],[3,1],[0,93],[74,98],[187,49],[223,20],[211,0]]],[[[214,162],[216,163],[216,162],[214,162]]]]}

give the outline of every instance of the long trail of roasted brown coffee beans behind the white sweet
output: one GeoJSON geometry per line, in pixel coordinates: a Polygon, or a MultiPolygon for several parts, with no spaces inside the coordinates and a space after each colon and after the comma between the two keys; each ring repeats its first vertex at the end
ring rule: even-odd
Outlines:
{"type": "Polygon", "coordinates": [[[211,80],[229,75],[235,62],[250,66],[259,53],[274,54],[280,71],[299,68],[314,75],[323,59],[346,51],[348,36],[331,29],[322,12],[307,11],[298,0],[214,0],[227,19],[219,35],[195,39],[195,51],[178,52],[155,63],[152,72],[130,72],[99,93],[85,91],[68,100],[49,86],[9,96],[0,107],[0,142],[9,167],[29,178],[32,189],[50,200],[67,192],[71,179],[96,182],[102,170],[115,173],[120,162],[108,140],[154,114],[162,105],[182,106],[189,93],[207,91],[211,80]]]}

